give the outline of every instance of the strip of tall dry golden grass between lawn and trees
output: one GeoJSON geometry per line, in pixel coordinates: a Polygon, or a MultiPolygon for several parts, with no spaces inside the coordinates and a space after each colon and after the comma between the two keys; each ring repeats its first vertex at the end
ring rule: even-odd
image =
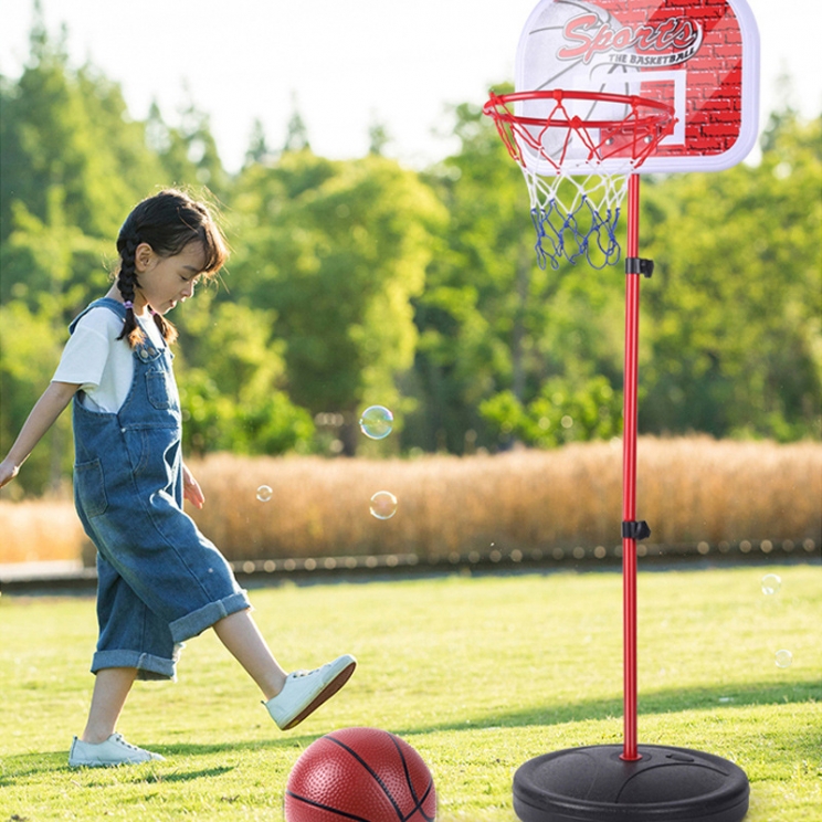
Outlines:
{"type": "MultiPolygon", "coordinates": [[[[619,544],[621,443],[412,460],[239,457],[191,462],[191,512],[232,560],[454,551],[486,555],[619,544]],[[267,502],[257,488],[271,488],[267,502]],[[379,520],[369,500],[398,499],[379,520]]],[[[822,444],[642,438],[637,516],[666,546],[822,541],[822,444]]],[[[71,503],[0,503],[0,562],[78,557],[71,503]]]]}

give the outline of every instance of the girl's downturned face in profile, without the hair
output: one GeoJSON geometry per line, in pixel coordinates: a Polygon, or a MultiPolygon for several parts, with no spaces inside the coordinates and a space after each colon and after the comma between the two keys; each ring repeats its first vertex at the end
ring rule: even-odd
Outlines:
{"type": "Polygon", "coordinates": [[[192,240],[179,254],[164,257],[148,243],[140,243],[135,264],[140,283],[136,289],[135,310],[141,314],[149,305],[157,314],[166,314],[193,296],[205,265],[205,251],[199,240],[192,240]]]}

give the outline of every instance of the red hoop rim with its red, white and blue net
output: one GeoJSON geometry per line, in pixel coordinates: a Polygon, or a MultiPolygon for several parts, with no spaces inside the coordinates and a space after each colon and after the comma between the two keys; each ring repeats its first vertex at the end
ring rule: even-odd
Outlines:
{"type": "Polygon", "coordinates": [[[492,93],[483,113],[523,169],[539,266],[558,268],[579,257],[594,268],[616,263],[629,177],[673,130],[673,108],[635,95],[552,89],[492,93]],[[619,115],[583,119],[575,113],[580,102],[591,112],[603,104],[609,115],[616,107],[619,115]],[[513,113],[512,103],[529,106],[529,115],[513,113]]]}

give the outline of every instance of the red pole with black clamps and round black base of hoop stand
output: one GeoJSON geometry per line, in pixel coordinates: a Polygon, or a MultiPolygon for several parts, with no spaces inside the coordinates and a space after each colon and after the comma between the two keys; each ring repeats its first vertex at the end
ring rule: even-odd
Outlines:
{"type": "Polygon", "coordinates": [[[720,757],[657,745],[636,734],[636,393],[640,275],[640,177],[628,188],[625,373],[622,491],[624,742],[546,753],[514,776],[514,810],[523,822],[739,822],[748,811],[745,772],[720,757]]]}

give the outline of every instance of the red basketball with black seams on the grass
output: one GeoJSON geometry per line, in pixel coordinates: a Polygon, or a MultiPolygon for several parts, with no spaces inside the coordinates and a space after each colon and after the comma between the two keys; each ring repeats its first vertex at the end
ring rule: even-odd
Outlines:
{"type": "Polygon", "coordinates": [[[433,822],[436,791],[422,757],[377,728],[344,728],[309,745],[285,789],[286,822],[433,822]]]}

